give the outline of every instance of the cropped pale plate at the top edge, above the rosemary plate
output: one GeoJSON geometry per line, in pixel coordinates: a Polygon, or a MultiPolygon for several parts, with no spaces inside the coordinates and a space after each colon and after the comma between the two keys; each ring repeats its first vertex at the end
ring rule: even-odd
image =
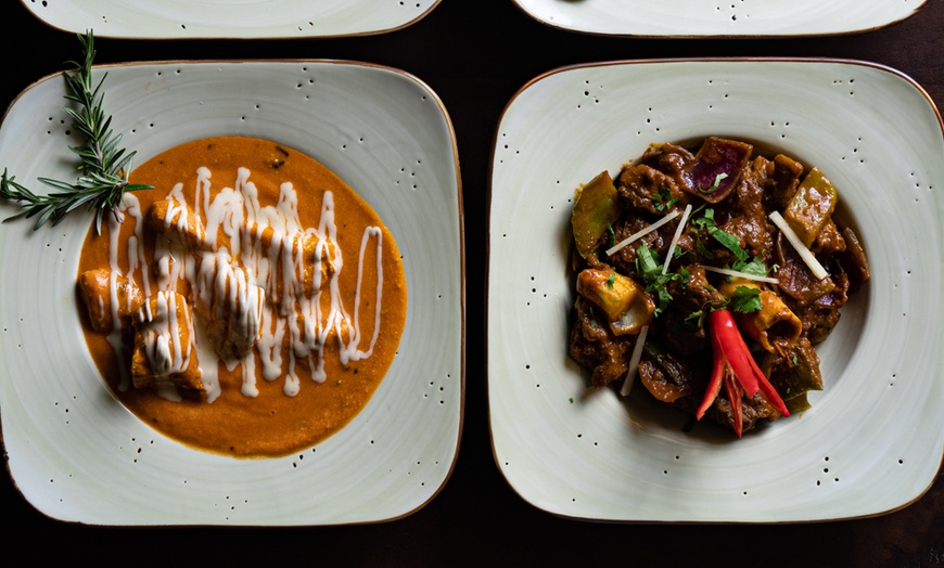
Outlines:
{"type": "Polygon", "coordinates": [[[52,27],[115,38],[312,38],[393,31],[439,0],[21,0],[52,27]]]}

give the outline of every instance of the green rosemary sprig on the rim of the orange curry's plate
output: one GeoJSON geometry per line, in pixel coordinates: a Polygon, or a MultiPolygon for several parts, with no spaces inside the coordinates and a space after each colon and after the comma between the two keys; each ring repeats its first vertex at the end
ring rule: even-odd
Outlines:
{"type": "Polygon", "coordinates": [[[47,221],[58,224],[73,210],[86,206],[95,211],[95,231],[102,232],[102,218],[105,212],[112,212],[119,218],[117,207],[126,191],[151,189],[151,185],[130,183],[128,172],[131,169],[131,158],[135,152],[118,147],[122,134],[112,132],[112,118],[102,111],[102,83],[107,77],[104,74],[98,85],[92,85],[92,62],[95,57],[94,41],[91,30],[86,36],[78,36],[82,44],[84,60],[81,63],[68,62],[77,67],[75,73],[63,73],[68,93],[65,99],[75,103],[77,108],[65,107],[72,117],[73,125],[86,140],[84,146],[69,146],[81,163],[79,177],[75,183],[39,178],[39,181],[53,188],[48,195],[37,195],[15,181],[14,176],[8,176],[7,169],[0,176],[0,197],[20,203],[23,210],[4,219],[9,221],[21,217],[36,217],[34,230],[47,221]]]}

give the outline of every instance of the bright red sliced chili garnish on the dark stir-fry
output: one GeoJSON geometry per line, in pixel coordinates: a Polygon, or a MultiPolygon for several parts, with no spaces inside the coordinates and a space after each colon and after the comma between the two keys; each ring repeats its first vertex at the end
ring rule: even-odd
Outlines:
{"type": "Polygon", "coordinates": [[[704,399],[696,412],[696,417],[701,419],[705,411],[714,403],[718,396],[722,384],[731,402],[731,414],[735,418],[735,433],[741,436],[741,396],[753,397],[761,395],[769,402],[777,412],[789,416],[787,404],[777,393],[777,389],[767,380],[764,373],[754,362],[735,318],[728,310],[715,310],[709,314],[709,333],[712,338],[714,351],[714,366],[704,399]],[[733,377],[733,378],[732,378],[733,377]],[[736,380],[735,380],[736,379],[736,380]]]}

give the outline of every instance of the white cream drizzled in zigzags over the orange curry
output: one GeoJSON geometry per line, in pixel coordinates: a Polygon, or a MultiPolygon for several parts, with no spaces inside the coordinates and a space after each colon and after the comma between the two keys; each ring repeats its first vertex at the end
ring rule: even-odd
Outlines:
{"type": "MultiPolygon", "coordinates": [[[[157,238],[153,284],[158,291],[157,305],[168,310],[169,318],[165,333],[145,337],[145,350],[154,357],[151,360],[153,370],[174,373],[186,369],[186,365],[180,365],[189,361],[190,351],[184,352],[180,343],[175,343],[168,335],[170,323],[178,323],[168,305],[171,300],[167,300],[173,297],[169,293],[176,291],[189,293],[194,304],[195,330],[191,337],[196,338],[201,379],[209,402],[220,392],[219,363],[231,371],[241,367],[241,392],[246,397],[258,395],[257,371],[269,382],[284,377],[283,392],[295,396],[301,389],[299,362],[304,361],[316,382],[326,380],[324,346],[332,336],[343,364],[369,358],[381,324],[381,229],[367,227],[362,234],[352,318],[344,308],[340,287],[344,262],[341,248],[335,246],[337,227],[333,194],[330,191],[323,193],[319,225],[306,230],[298,218],[298,197],[291,183],[281,185],[275,206],[261,206],[247,168],[239,168],[233,186],[225,186],[215,195],[212,176],[208,168],[197,168],[193,206],[189,205],[183,183],[177,183],[166,197],[173,205],[164,218],[165,229],[173,231],[176,228],[182,234],[190,228],[195,243],[157,238]],[[375,241],[377,249],[373,334],[369,346],[361,349],[361,282],[366,270],[363,258],[371,240],[375,241]],[[197,249],[193,249],[194,246],[197,249]],[[235,337],[257,336],[258,340],[244,356],[227,359],[209,347],[220,339],[212,338],[207,327],[217,333],[220,328],[227,333],[231,331],[235,337]],[[289,348],[283,349],[286,341],[289,348]]],[[[124,357],[122,322],[117,313],[117,279],[124,276],[136,285],[140,280],[145,298],[152,297],[152,283],[143,254],[143,216],[133,194],[125,194],[120,212],[136,222],[135,235],[127,244],[128,266],[119,267],[120,225],[114,219],[110,220],[110,294],[114,330],[109,341],[116,353],[124,357]]],[[[123,369],[119,388],[125,390],[129,384],[128,372],[123,369]]],[[[174,395],[164,393],[168,398],[175,398],[174,395]]]]}

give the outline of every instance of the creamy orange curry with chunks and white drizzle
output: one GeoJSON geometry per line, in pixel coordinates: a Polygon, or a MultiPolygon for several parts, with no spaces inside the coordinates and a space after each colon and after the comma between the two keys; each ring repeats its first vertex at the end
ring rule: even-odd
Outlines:
{"type": "Polygon", "coordinates": [[[158,431],[241,457],[347,424],[396,356],[407,287],[390,230],[314,158],[220,137],[142,164],[79,260],[86,341],[158,431]],[[120,222],[116,217],[120,217],[120,222]]]}

